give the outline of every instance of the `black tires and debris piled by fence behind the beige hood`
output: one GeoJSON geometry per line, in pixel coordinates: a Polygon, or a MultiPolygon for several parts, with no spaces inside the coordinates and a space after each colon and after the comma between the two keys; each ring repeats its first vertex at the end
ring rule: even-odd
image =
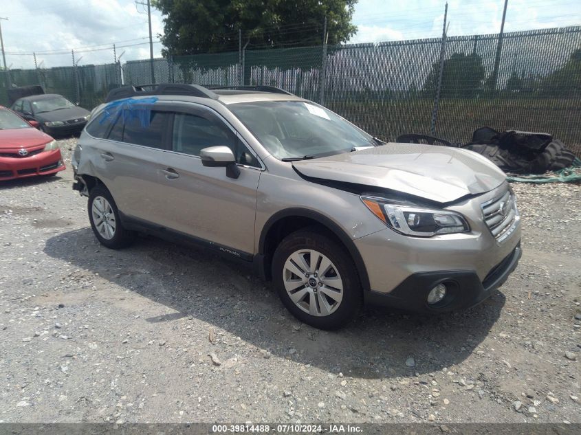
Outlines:
{"type": "Polygon", "coordinates": [[[465,148],[483,155],[508,174],[542,174],[568,168],[575,155],[548,133],[482,127],[474,131],[468,144],[452,144],[426,135],[407,134],[397,137],[400,143],[431,144],[465,148]]]}

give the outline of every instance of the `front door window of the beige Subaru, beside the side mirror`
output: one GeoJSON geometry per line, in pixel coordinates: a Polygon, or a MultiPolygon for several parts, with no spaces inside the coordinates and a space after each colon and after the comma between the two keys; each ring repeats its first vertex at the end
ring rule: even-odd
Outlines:
{"type": "Polygon", "coordinates": [[[256,157],[238,137],[219,120],[176,113],[173,120],[172,150],[177,153],[199,155],[208,146],[228,146],[236,161],[248,166],[259,166],[256,157]]]}

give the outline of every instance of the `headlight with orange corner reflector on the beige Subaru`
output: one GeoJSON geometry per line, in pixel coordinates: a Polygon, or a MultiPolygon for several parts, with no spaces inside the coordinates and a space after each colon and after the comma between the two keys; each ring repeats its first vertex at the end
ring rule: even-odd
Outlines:
{"type": "Polygon", "coordinates": [[[388,227],[408,236],[430,237],[470,231],[468,222],[459,213],[397,204],[375,197],[361,197],[361,200],[388,227]]]}

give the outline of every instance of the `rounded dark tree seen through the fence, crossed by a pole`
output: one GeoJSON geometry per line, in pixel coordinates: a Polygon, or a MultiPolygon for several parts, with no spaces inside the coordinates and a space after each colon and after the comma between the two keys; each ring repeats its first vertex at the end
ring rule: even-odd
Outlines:
{"type": "MultiPolygon", "coordinates": [[[[424,94],[433,96],[439,75],[439,62],[432,65],[426,78],[424,94]]],[[[444,60],[441,98],[472,98],[481,89],[484,80],[484,67],[479,54],[454,53],[444,60]]]]}

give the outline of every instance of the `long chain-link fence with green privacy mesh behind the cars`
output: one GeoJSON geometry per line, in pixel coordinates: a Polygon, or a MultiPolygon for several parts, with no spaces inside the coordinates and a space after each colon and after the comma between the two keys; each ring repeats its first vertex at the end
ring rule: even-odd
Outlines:
{"type": "MultiPolygon", "coordinates": [[[[581,27],[378,44],[246,49],[121,65],[12,70],[88,109],[121,83],[274,85],[321,102],[369,133],[467,142],[479,126],[547,131],[581,150],[581,27]],[[443,45],[441,87],[438,87],[443,45]],[[498,63],[496,63],[498,62],[498,63]],[[496,66],[497,65],[497,66],[496,66]],[[439,92],[438,92],[438,89],[439,92]],[[435,100],[437,111],[434,111],[435,100]],[[580,148],[578,148],[578,146],[580,148]]],[[[6,73],[0,71],[0,86],[6,73]]],[[[0,102],[6,94],[0,89],[0,102]]]]}

